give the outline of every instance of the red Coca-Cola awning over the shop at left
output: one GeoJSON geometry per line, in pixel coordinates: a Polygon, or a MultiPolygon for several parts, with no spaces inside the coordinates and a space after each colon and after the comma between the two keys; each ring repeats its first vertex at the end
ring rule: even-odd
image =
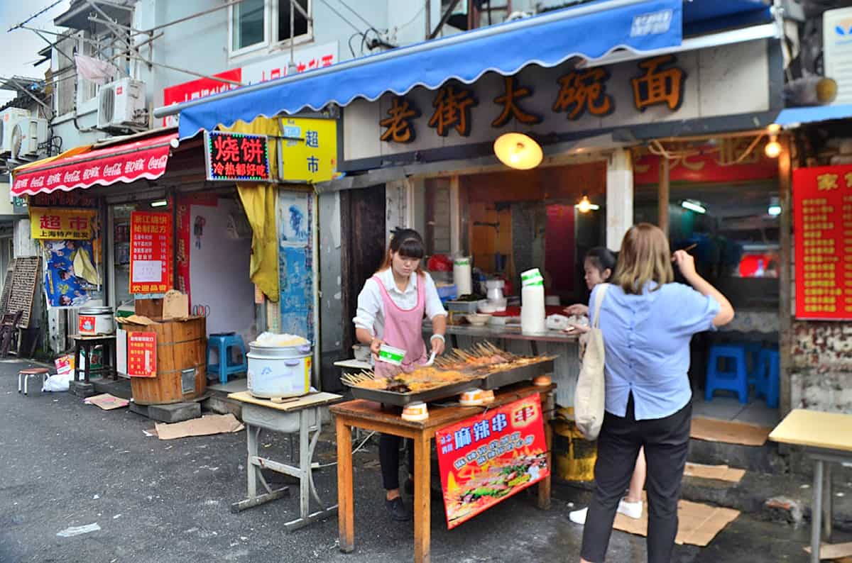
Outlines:
{"type": "Polygon", "coordinates": [[[15,168],[13,196],[71,191],[93,185],[158,179],[165,173],[170,144],[176,133],[158,135],[102,149],[59,156],[15,168]]]}

